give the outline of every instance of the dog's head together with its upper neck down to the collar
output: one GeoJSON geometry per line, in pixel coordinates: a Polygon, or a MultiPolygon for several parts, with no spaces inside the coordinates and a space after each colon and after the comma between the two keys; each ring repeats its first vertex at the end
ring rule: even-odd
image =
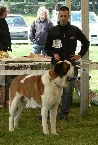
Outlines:
{"type": "Polygon", "coordinates": [[[59,61],[50,71],[49,77],[60,87],[66,87],[70,79],[74,77],[74,67],[71,62],[59,61]]]}

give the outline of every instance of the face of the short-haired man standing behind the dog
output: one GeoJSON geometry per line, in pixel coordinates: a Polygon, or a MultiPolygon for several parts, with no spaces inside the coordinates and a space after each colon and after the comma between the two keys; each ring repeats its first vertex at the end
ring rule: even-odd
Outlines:
{"type": "Polygon", "coordinates": [[[67,25],[68,19],[70,18],[68,11],[59,11],[58,18],[60,20],[60,25],[67,25]]]}

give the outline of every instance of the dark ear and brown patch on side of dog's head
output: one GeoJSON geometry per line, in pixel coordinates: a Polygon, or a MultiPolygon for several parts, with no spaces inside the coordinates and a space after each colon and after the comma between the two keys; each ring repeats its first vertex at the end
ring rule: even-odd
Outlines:
{"type": "Polygon", "coordinates": [[[70,64],[65,64],[65,62],[57,63],[54,67],[54,72],[58,73],[59,76],[62,78],[66,75],[68,70],[70,69],[70,64]]]}

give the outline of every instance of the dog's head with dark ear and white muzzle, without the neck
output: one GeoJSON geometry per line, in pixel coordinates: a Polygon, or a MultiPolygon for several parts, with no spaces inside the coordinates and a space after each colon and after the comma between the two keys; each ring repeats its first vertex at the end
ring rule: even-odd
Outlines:
{"type": "Polygon", "coordinates": [[[54,72],[57,73],[60,76],[60,78],[62,78],[65,75],[68,78],[74,77],[74,67],[72,66],[71,62],[69,62],[67,60],[59,61],[54,66],[54,72]]]}

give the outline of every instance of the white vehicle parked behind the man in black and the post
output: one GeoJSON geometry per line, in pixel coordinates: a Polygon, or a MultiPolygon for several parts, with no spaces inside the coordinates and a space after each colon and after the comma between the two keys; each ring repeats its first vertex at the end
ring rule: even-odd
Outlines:
{"type": "MultiPolygon", "coordinates": [[[[51,21],[57,25],[58,12],[53,10],[51,21]]],[[[81,29],[81,11],[71,11],[71,24],[81,29]]],[[[98,19],[94,12],[89,12],[89,40],[90,44],[98,45],[98,19]]]]}

